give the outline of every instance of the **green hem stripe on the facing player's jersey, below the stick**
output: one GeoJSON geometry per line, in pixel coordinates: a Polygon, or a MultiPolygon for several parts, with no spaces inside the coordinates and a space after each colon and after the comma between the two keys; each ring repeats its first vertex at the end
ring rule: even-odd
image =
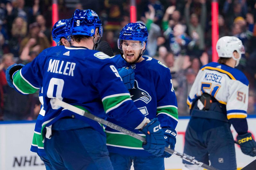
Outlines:
{"type": "Polygon", "coordinates": [[[117,145],[122,148],[134,147],[134,149],[142,149],[142,142],[139,139],[125,134],[115,134],[116,132],[108,133],[105,131],[105,133],[107,135],[107,144],[117,145]]]}

